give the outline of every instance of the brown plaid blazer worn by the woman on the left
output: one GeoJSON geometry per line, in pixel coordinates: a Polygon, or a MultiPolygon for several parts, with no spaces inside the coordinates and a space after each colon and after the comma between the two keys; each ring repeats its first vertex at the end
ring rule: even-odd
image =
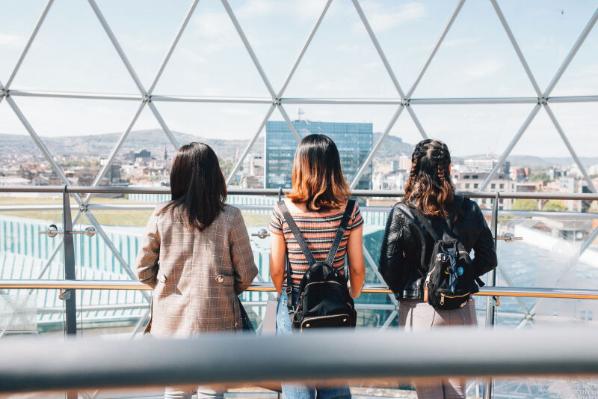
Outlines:
{"type": "Polygon", "coordinates": [[[153,288],[151,334],[187,337],[242,328],[237,295],[257,274],[241,211],[226,205],[205,230],[185,227],[176,211],[151,216],[136,261],[153,288]]]}

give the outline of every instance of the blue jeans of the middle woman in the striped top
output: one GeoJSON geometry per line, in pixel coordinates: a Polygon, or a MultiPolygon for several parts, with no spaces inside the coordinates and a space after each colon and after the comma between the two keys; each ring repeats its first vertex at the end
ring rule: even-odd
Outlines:
{"type": "MultiPolygon", "coordinates": [[[[276,334],[286,335],[293,333],[289,309],[287,307],[288,297],[282,292],[278,299],[276,309],[276,334]]],[[[299,384],[282,384],[282,394],[285,399],[350,399],[351,391],[348,386],[341,387],[309,387],[299,384]]]]}

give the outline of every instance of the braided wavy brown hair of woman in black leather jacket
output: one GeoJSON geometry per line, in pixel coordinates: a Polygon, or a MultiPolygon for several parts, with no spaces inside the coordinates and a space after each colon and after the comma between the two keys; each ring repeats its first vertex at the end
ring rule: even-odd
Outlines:
{"type": "Polygon", "coordinates": [[[451,154],[446,144],[431,139],[420,141],[411,156],[404,201],[424,215],[447,217],[455,197],[450,164],[451,154]]]}

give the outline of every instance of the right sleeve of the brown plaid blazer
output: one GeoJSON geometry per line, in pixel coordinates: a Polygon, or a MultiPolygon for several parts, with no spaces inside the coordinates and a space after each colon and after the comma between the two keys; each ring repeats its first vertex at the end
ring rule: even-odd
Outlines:
{"type": "Polygon", "coordinates": [[[234,208],[229,231],[230,256],[235,274],[235,292],[240,294],[251,285],[258,269],[253,260],[253,251],[243,215],[234,208]]]}

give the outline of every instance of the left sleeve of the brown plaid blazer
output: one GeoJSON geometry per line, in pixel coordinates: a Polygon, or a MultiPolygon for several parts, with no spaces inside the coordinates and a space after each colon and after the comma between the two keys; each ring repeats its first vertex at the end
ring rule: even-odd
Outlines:
{"type": "Polygon", "coordinates": [[[154,288],[158,275],[158,259],[160,257],[160,233],[158,231],[157,210],[150,217],[142,237],[141,249],[135,261],[137,278],[144,284],[154,288]]]}

